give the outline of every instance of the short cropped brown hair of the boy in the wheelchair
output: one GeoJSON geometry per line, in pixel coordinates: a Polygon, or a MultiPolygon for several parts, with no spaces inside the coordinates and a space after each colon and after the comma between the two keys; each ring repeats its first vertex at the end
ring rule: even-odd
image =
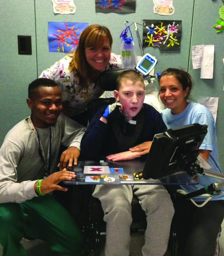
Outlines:
{"type": "Polygon", "coordinates": [[[130,80],[133,84],[136,82],[142,82],[142,86],[145,88],[143,77],[135,70],[125,70],[117,78],[117,90],[120,89],[123,81],[130,80]]]}

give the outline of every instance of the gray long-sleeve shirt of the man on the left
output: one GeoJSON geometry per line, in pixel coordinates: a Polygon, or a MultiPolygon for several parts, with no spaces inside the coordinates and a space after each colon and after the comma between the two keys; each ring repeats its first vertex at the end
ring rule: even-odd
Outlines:
{"type": "MultiPolygon", "coordinates": [[[[60,114],[51,129],[52,173],[57,170],[60,144],[80,149],[86,129],[63,114],[60,114]]],[[[20,203],[37,196],[34,184],[45,174],[38,149],[38,141],[26,119],[8,132],[0,148],[0,203],[20,203]]]]}

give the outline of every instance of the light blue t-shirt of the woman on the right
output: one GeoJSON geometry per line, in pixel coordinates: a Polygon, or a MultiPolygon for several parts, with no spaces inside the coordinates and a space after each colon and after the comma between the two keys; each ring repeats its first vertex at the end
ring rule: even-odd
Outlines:
{"type": "MultiPolygon", "coordinates": [[[[212,167],[212,170],[216,172],[222,172],[218,162],[218,144],[216,138],[216,124],[211,112],[202,104],[190,102],[183,112],[180,114],[173,115],[169,108],[166,108],[161,113],[162,119],[166,124],[167,128],[177,128],[179,126],[187,124],[206,124],[208,126],[208,133],[206,134],[200,149],[210,150],[210,156],[208,163],[212,167]]],[[[214,182],[220,182],[220,180],[198,175],[199,183],[198,185],[181,185],[182,189],[186,192],[192,192],[199,188],[204,188],[214,182]]],[[[196,197],[194,200],[201,201],[204,200],[203,197],[196,197]]],[[[214,196],[212,200],[224,200],[224,195],[214,196]]]]}

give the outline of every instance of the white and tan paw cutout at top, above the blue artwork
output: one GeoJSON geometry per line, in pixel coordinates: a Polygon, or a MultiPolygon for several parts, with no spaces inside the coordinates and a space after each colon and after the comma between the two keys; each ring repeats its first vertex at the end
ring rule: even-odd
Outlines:
{"type": "Polygon", "coordinates": [[[76,6],[73,0],[51,0],[54,13],[73,14],[76,12],[76,6]]]}

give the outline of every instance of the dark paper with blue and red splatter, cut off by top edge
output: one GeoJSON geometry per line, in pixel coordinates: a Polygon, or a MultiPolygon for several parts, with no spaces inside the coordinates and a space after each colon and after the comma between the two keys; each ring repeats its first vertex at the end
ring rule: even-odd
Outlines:
{"type": "Polygon", "coordinates": [[[136,0],[95,0],[96,12],[134,13],[136,0]]]}

